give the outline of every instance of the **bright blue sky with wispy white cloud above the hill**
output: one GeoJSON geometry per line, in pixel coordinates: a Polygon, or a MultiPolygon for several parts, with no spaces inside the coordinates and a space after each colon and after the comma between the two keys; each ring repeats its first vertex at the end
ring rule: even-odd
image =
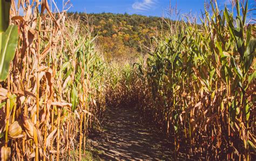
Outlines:
{"type": "MultiPolygon", "coordinates": [[[[55,0],[59,8],[62,8],[62,0],[55,0]]],[[[181,13],[192,11],[200,15],[200,9],[204,9],[205,0],[171,0],[172,5],[178,6],[181,13]]],[[[220,6],[230,5],[230,0],[217,0],[220,6]]],[[[169,0],[71,0],[72,7],[69,11],[87,13],[129,13],[146,16],[163,16],[169,8],[169,0]]],[[[249,0],[250,8],[255,6],[254,0],[249,0]]],[[[255,7],[254,7],[255,8],[255,7]]]]}

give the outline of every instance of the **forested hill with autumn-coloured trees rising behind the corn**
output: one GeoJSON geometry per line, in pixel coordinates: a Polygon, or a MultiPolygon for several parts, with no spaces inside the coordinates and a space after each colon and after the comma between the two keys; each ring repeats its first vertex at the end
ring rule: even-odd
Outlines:
{"type": "MultiPolygon", "coordinates": [[[[86,18],[85,13],[70,13],[74,18],[86,18]]],[[[138,54],[145,53],[150,38],[161,29],[168,29],[160,17],[141,15],[97,13],[88,14],[93,25],[93,34],[107,61],[132,61],[138,54]]]]}

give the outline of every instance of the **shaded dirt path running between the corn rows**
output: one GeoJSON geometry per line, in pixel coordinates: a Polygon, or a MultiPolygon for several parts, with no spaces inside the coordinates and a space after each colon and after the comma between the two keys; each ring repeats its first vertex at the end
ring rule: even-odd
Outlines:
{"type": "Polygon", "coordinates": [[[147,128],[133,109],[107,109],[105,131],[89,139],[104,160],[172,160],[166,139],[147,128]]]}

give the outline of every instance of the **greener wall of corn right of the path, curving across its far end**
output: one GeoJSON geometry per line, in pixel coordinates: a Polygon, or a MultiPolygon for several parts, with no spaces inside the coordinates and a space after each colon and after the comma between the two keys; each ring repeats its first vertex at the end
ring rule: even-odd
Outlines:
{"type": "Polygon", "coordinates": [[[173,141],[176,159],[185,152],[192,159],[250,160],[256,144],[255,25],[246,24],[248,1],[236,1],[235,11],[210,5],[212,14],[205,9],[201,25],[185,16],[151,38],[156,45],[131,73],[119,69],[107,104],[136,106],[173,141]]]}

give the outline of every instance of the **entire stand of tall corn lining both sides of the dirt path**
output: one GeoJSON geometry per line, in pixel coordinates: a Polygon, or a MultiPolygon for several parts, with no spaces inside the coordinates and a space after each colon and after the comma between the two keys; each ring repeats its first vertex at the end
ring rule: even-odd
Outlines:
{"type": "Polygon", "coordinates": [[[52,12],[54,1],[1,1],[2,160],[63,160],[100,127],[106,107],[136,107],[173,142],[174,158],[250,160],[256,155],[255,24],[248,1],[201,24],[184,16],[151,38],[133,65],[106,64],[90,18],[52,12]],[[23,12],[23,15],[19,13],[23,12]]]}

